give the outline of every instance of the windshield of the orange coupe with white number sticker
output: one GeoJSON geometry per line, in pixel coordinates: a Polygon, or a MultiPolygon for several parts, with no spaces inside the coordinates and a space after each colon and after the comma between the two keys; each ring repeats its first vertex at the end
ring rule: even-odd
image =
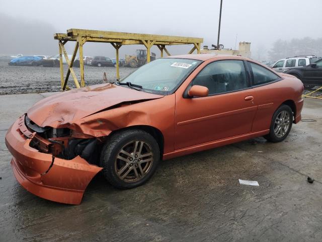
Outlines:
{"type": "Polygon", "coordinates": [[[159,58],[150,62],[120,82],[142,86],[145,92],[169,95],[196,69],[201,61],[181,58],[159,58]]]}

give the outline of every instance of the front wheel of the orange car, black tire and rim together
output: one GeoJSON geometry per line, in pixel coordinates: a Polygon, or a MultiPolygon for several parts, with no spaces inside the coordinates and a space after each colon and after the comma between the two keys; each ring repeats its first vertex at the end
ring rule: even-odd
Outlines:
{"type": "Polygon", "coordinates": [[[159,146],[150,134],[124,130],[108,139],[102,149],[100,166],[113,187],[130,189],[146,183],[159,160],[159,146]]]}

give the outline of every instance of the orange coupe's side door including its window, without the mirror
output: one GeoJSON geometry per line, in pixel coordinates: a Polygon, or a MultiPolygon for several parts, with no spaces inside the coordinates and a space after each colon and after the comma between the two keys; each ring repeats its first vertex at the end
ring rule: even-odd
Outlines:
{"type": "Polygon", "coordinates": [[[207,87],[209,94],[189,97],[176,93],[175,149],[251,132],[257,104],[243,61],[212,62],[187,90],[193,85],[207,87]]]}

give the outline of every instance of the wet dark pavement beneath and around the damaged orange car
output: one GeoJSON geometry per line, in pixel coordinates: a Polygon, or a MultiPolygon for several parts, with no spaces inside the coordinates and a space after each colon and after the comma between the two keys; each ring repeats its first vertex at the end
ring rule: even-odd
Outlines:
{"type": "Polygon", "coordinates": [[[284,142],[257,138],[167,160],[131,190],[98,174],[71,206],[22,188],[4,142],[14,120],[48,95],[0,96],[0,241],[321,240],[321,100],[304,100],[302,119],[313,121],[293,125],[284,142]]]}

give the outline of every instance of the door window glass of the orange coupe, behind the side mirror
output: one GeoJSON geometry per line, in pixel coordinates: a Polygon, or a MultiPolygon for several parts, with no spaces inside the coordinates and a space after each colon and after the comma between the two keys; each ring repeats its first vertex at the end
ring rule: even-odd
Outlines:
{"type": "Polygon", "coordinates": [[[209,95],[249,87],[243,61],[217,61],[207,65],[193,80],[205,86],[209,95]]]}

